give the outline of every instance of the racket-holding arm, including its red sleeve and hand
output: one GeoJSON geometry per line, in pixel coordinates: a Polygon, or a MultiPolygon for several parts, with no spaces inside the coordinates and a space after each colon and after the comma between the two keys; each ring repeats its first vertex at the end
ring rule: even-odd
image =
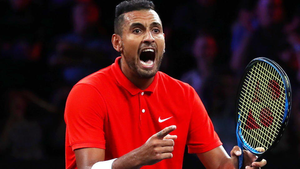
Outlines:
{"type": "MultiPolygon", "coordinates": [[[[191,88],[192,89],[192,88],[191,88]]],[[[241,149],[238,146],[234,146],[228,156],[227,152],[224,150],[222,143],[214,131],[212,121],[207,115],[205,107],[197,95],[195,90],[191,90],[190,95],[190,106],[192,107],[192,115],[190,120],[189,132],[187,136],[187,145],[189,148],[189,153],[197,153],[198,158],[206,168],[221,169],[221,168],[238,168],[238,156],[241,155],[241,149]],[[214,145],[211,145],[213,141],[216,141],[214,145]],[[196,146],[195,146],[196,144],[196,146]],[[209,146],[205,149],[197,147],[197,144],[207,144],[209,146]],[[221,145],[221,146],[219,146],[221,145]],[[211,150],[210,150],[211,149],[211,150]],[[209,150],[209,151],[207,151],[209,150]]],[[[253,162],[256,160],[254,156],[249,151],[244,152],[244,168],[247,165],[247,169],[250,169],[251,165],[255,167],[262,167],[266,165],[267,161],[262,160],[260,162],[253,162]]]]}

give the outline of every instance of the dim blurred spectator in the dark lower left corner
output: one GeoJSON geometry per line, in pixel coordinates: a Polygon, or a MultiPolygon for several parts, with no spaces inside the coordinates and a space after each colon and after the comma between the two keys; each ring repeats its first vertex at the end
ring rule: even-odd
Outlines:
{"type": "MultiPolygon", "coordinates": [[[[21,91],[11,91],[9,117],[1,134],[0,149],[16,160],[40,160],[44,158],[42,128],[35,115],[30,115],[28,98],[21,91]]],[[[40,113],[40,112],[35,112],[40,113]]]]}

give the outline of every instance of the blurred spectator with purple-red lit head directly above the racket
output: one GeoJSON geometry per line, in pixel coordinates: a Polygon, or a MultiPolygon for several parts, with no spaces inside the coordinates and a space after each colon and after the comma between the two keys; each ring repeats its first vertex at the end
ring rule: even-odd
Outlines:
{"type": "MultiPolygon", "coordinates": [[[[288,47],[283,34],[283,8],[281,0],[258,0],[256,6],[257,29],[246,39],[246,44],[233,52],[231,67],[239,74],[252,59],[267,57],[280,62],[280,54],[288,47]]],[[[243,41],[241,41],[244,43],[243,41]]]]}

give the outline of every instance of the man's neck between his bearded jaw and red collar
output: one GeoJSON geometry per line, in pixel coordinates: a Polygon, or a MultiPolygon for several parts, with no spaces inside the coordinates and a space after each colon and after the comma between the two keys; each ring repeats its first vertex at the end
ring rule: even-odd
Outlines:
{"type": "Polygon", "coordinates": [[[141,78],[136,72],[133,72],[125,63],[125,60],[120,59],[119,66],[123,72],[123,74],[129,79],[135,86],[137,86],[141,90],[147,89],[151,83],[153,82],[154,76],[151,78],[141,78]]]}

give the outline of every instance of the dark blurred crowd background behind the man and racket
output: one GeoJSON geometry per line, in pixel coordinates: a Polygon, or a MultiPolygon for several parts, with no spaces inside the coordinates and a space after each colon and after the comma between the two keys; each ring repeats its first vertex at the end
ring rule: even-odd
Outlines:
{"type": "MultiPolygon", "coordinates": [[[[112,64],[121,1],[0,0],[0,167],[64,168],[65,102],[83,77],[112,64]]],[[[243,69],[273,59],[292,84],[292,111],[263,168],[300,161],[300,2],[154,0],[166,35],[161,71],[192,85],[227,153],[236,145],[235,97],[243,69]]],[[[195,155],[183,168],[202,168],[195,155]]]]}

